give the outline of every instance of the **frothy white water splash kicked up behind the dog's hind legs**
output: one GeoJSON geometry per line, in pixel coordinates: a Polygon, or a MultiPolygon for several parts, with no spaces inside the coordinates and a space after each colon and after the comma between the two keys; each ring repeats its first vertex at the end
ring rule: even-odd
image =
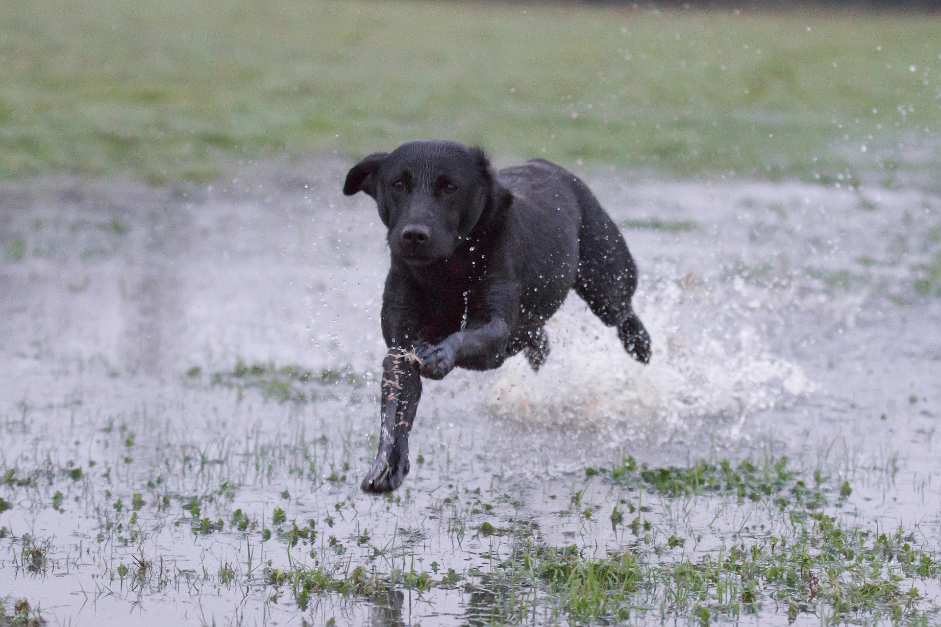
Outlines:
{"type": "Polygon", "coordinates": [[[571,298],[547,325],[547,363],[534,372],[521,356],[510,360],[487,407],[537,424],[643,429],[656,421],[675,431],[700,418],[738,424],[812,391],[804,371],[770,353],[754,327],[743,324],[738,337],[725,339],[681,323],[703,306],[703,298],[691,299],[675,283],[654,290],[639,307],[653,341],[650,364],[643,365],[624,351],[614,329],[571,298]]]}

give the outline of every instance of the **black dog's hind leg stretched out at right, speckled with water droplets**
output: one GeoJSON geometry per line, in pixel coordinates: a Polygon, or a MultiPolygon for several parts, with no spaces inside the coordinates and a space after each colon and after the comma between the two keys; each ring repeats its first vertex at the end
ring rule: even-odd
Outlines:
{"type": "Polygon", "coordinates": [[[646,364],[650,361],[650,336],[630,306],[637,289],[637,266],[614,220],[601,209],[595,195],[581,180],[574,186],[582,205],[575,291],[602,322],[617,327],[617,337],[630,356],[646,364]]]}

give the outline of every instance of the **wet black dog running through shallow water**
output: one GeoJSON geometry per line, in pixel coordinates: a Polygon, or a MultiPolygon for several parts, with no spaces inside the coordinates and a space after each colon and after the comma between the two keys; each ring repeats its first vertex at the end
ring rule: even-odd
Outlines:
{"type": "Polygon", "coordinates": [[[494,173],[483,150],[409,142],[372,154],[343,194],[375,198],[389,228],[382,297],[382,433],[366,492],[395,490],[408,474],[422,379],[459,366],[499,368],[523,351],[549,354],[543,324],[572,288],[635,359],[650,336],[630,307],[637,270],[627,243],[577,177],[542,159],[494,173]]]}

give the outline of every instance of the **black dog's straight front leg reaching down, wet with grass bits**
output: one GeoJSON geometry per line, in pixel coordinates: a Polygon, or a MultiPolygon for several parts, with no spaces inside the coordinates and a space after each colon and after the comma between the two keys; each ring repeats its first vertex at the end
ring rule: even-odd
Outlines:
{"type": "Polygon", "coordinates": [[[408,433],[422,398],[422,377],[413,353],[393,348],[386,354],[381,393],[379,451],[360,485],[364,492],[375,494],[395,490],[408,474],[408,433]]]}

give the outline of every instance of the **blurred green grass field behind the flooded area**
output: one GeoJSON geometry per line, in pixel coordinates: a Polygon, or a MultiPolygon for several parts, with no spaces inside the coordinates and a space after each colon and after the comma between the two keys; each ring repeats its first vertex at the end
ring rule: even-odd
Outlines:
{"type": "Polygon", "coordinates": [[[937,180],[939,130],[930,13],[0,3],[2,179],[205,181],[436,137],[683,178],[894,185],[937,180]]]}

